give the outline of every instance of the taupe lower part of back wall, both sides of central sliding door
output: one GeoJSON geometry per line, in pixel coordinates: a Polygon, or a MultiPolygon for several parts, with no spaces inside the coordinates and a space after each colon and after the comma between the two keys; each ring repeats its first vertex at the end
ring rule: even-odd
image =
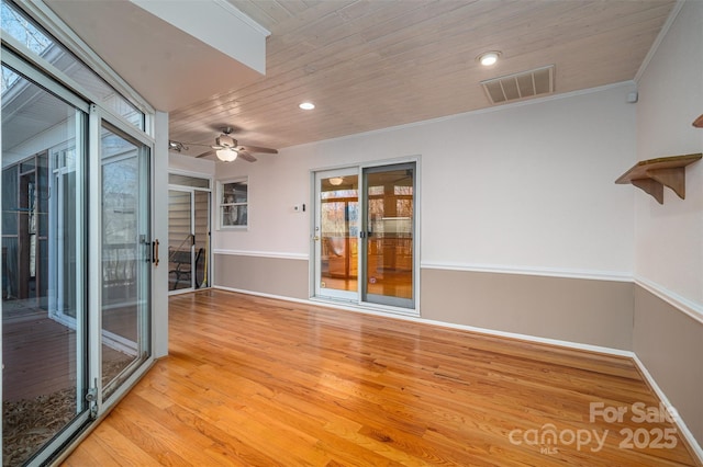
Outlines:
{"type": "MultiPolygon", "coordinates": [[[[309,298],[309,262],[215,254],[215,286],[309,298]]],[[[421,317],[629,351],[631,282],[423,269],[421,317]]]]}

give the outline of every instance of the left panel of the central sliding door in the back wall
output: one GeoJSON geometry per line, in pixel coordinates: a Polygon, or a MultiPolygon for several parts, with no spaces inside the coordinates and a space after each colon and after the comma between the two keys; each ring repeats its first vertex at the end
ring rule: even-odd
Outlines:
{"type": "Polygon", "coordinates": [[[315,185],[315,296],[358,300],[357,172],[319,172],[315,185]]]}

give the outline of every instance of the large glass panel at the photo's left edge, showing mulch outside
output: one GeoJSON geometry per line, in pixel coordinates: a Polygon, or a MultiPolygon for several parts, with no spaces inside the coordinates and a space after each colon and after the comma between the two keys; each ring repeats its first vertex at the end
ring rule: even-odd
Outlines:
{"type": "Polygon", "coordinates": [[[2,460],[38,465],[89,418],[88,121],[4,65],[2,82],[2,460]]]}

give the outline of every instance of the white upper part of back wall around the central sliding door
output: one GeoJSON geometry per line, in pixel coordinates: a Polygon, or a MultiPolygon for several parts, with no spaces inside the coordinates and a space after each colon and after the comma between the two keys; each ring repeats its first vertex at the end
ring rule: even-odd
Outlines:
{"type": "MultiPolygon", "coordinates": [[[[420,156],[425,265],[628,276],[633,196],[615,179],[635,161],[633,84],[498,107],[217,164],[249,176],[247,231],[217,250],[306,258],[310,171],[420,156]]],[[[372,109],[370,110],[372,112],[372,109]]]]}

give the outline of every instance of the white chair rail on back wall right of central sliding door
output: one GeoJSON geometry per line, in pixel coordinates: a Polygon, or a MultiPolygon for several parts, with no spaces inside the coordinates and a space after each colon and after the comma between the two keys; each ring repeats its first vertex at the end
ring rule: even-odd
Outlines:
{"type": "Polygon", "coordinates": [[[423,261],[421,267],[428,270],[448,270],[466,272],[484,272],[495,274],[538,275],[546,277],[585,278],[591,281],[632,282],[627,272],[570,270],[557,267],[505,266],[496,264],[436,263],[423,261]]]}

